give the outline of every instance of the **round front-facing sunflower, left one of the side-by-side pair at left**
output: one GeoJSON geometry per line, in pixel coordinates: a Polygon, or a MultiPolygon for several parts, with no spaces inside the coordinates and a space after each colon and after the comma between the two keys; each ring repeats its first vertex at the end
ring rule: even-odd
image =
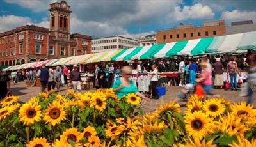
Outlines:
{"type": "Polygon", "coordinates": [[[24,125],[33,125],[41,120],[41,106],[34,103],[23,104],[19,110],[19,118],[24,125]]]}

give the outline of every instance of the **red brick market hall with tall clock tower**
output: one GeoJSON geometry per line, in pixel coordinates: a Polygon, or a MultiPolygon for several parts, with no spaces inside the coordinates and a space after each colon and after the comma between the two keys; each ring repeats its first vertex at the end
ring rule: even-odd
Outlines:
{"type": "Polygon", "coordinates": [[[90,54],[91,36],[70,34],[70,6],[50,4],[49,29],[31,24],[0,33],[0,66],[90,54]]]}

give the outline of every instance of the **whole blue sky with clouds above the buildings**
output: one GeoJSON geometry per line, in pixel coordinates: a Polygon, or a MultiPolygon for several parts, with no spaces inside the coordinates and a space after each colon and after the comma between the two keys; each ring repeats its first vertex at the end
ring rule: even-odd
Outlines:
{"type": "MultiPolygon", "coordinates": [[[[49,26],[49,4],[61,0],[1,0],[0,32],[26,22],[49,26]]],[[[253,0],[67,0],[71,6],[71,32],[95,37],[138,37],[183,24],[196,26],[208,20],[256,22],[253,0]]]]}

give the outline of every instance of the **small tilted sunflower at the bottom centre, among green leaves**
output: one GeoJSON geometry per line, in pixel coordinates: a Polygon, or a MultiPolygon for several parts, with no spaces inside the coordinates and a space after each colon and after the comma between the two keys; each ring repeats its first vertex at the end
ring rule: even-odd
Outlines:
{"type": "Polygon", "coordinates": [[[116,140],[124,130],[125,128],[123,125],[117,126],[114,124],[106,129],[105,135],[106,137],[111,138],[111,140],[116,140]]]}

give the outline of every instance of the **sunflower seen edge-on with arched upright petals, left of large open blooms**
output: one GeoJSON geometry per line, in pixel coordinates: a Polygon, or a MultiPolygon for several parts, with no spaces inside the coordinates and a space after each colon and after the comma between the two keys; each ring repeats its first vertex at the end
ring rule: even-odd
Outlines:
{"type": "Polygon", "coordinates": [[[174,100],[170,100],[168,104],[160,105],[157,110],[154,112],[154,115],[160,117],[166,111],[173,111],[173,112],[181,112],[180,105],[175,104],[174,100]]]}

